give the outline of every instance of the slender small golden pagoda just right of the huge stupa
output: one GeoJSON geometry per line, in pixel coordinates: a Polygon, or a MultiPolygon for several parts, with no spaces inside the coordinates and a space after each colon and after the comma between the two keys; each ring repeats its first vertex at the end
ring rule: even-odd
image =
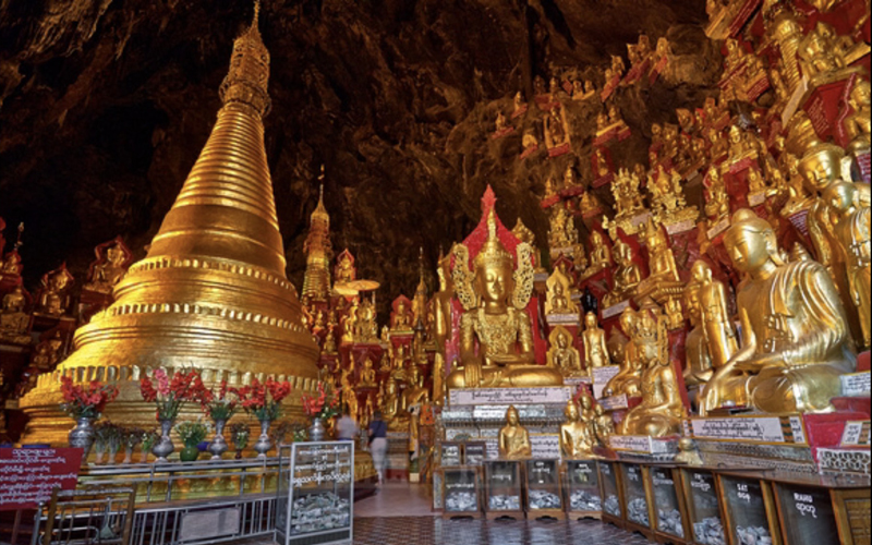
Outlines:
{"type": "Polygon", "coordinates": [[[324,207],[324,165],[320,167],[322,182],[318,206],[312,213],[308,235],[303,244],[306,254],[306,272],[303,277],[303,298],[310,301],[327,301],[330,294],[330,259],[334,251],[330,244],[330,216],[324,207]]]}

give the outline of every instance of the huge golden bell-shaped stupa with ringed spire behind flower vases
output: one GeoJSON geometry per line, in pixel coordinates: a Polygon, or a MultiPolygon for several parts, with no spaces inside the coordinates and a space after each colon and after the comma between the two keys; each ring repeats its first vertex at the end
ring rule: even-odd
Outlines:
{"type": "Polygon", "coordinates": [[[302,414],[318,348],[284,274],[262,122],[268,77],[255,8],[233,44],[211,135],[148,255],[114,288],[114,303],[78,328],[70,358],[21,400],[31,416],[23,441],[65,441],[72,421],[59,408],[62,375],[116,383],[120,396],[105,416],[119,424],[155,425],[138,378],[159,366],[201,370],[207,384],[288,379],[294,390],[286,415],[302,414]]]}

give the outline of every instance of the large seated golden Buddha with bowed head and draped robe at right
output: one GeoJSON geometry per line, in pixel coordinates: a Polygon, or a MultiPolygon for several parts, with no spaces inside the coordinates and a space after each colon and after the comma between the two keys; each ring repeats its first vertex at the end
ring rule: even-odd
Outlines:
{"type": "Polygon", "coordinates": [[[737,296],[743,342],[706,385],[701,414],[737,404],[736,391],[762,412],[832,410],[839,376],[855,370],[856,355],[826,270],[811,259],[784,263],[772,226],[748,209],[734,215],[725,245],[747,275],[737,296]]]}

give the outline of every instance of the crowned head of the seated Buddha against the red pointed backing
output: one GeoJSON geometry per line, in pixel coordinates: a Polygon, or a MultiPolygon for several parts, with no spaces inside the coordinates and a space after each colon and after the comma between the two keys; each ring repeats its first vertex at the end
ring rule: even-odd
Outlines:
{"type": "Polygon", "coordinates": [[[494,210],[487,216],[487,240],[473,261],[475,291],[482,303],[504,307],[513,290],[511,254],[497,238],[494,210]]]}

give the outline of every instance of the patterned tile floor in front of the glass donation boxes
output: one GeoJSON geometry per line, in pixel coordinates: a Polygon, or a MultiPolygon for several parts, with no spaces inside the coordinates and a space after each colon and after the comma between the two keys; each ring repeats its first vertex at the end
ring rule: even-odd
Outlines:
{"type": "Polygon", "coordinates": [[[354,545],[644,545],[600,521],[443,520],[434,517],[355,518],[354,545]]]}

